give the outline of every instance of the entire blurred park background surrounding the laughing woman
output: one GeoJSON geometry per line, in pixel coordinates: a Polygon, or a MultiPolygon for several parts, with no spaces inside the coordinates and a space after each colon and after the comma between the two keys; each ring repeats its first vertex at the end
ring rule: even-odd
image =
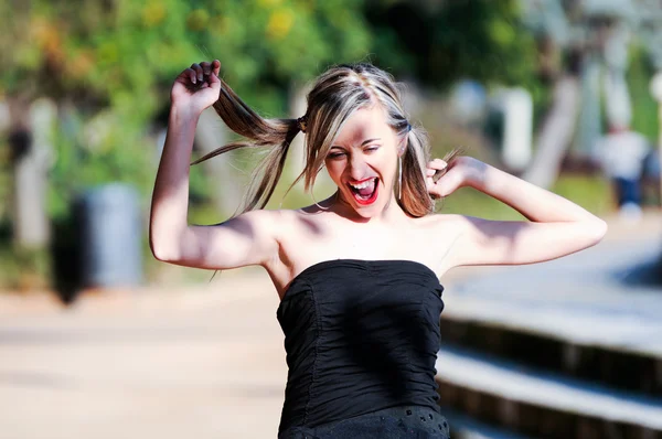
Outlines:
{"type": "MultiPolygon", "coordinates": [[[[287,370],[268,278],[151,257],[169,90],[194,62],[267,117],[328,66],[406,86],[434,154],[606,218],[558,261],[442,279],[456,437],[662,437],[660,0],[6,0],[0,3],[0,437],[274,437],[287,370]]],[[[205,113],[194,157],[232,140],[205,113]]],[[[270,208],[301,186],[301,139],[270,208]]],[[[239,207],[259,153],[191,170],[190,222],[239,207]]],[[[445,213],[521,218],[471,189],[445,213]]]]}

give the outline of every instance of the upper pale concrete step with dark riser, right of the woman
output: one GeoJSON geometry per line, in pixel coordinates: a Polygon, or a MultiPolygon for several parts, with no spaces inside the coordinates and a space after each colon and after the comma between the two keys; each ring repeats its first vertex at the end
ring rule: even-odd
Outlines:
{"type": "Polygon", "coordinates": [[[612,242],[451,281],[441,343],[662,397],[662,289],[640,281],[660,248],[612,242]]]}

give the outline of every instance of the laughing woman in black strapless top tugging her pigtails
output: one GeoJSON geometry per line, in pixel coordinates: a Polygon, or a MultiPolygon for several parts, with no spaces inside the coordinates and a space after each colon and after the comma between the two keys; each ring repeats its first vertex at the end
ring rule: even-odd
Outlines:
{"type": "Polygon", "coordinates": [[[439,278],[457,266],[533,264],[581,250],[602,238],[605,222],[476,159],[430,161],[396,84],[370,64],[322,74],[299,119],[260,118],[218,78],[220,68],[218,61],[193,64],[172,87],[152,199],[153,255],[189,267],[267,270],[281,299],[289,366],[279,438],[447,438],[435,384],[439,278]],[[193,136],[212,105],[247,140],[209,157],[242,147],[270,152],[243,214],[190,225],[193,136]],[[306,189],[325,167],[338,191],[300,210],[263,210],[300,131],[306,189]],[[434,199],[461,186],[530,221],[433,214],[434,199]]]}

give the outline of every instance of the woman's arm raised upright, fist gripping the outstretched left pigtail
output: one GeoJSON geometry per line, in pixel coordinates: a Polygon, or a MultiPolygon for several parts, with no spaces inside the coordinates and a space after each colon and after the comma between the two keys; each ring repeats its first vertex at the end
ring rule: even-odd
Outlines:
{"type": "Polygon", "coordinates": [[[193,64],[171,92],[168,135],[152,194],[149,242],[159,260],[227,269],[265,264],[277,253],[275,212],[257,211],[215,226],[188,224],[189,163],[202,110],[218,99],[221,63],[193,64]]]}

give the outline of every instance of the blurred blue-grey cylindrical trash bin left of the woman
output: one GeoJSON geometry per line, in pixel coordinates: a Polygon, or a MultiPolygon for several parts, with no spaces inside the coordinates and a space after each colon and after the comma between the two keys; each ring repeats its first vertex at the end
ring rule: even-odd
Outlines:
{"type": "Polygon", "coordinates": [[[82,287],[140,285],[141,220],[136,190],[110,183],[88,190],[77,204],[82,287]]]}

